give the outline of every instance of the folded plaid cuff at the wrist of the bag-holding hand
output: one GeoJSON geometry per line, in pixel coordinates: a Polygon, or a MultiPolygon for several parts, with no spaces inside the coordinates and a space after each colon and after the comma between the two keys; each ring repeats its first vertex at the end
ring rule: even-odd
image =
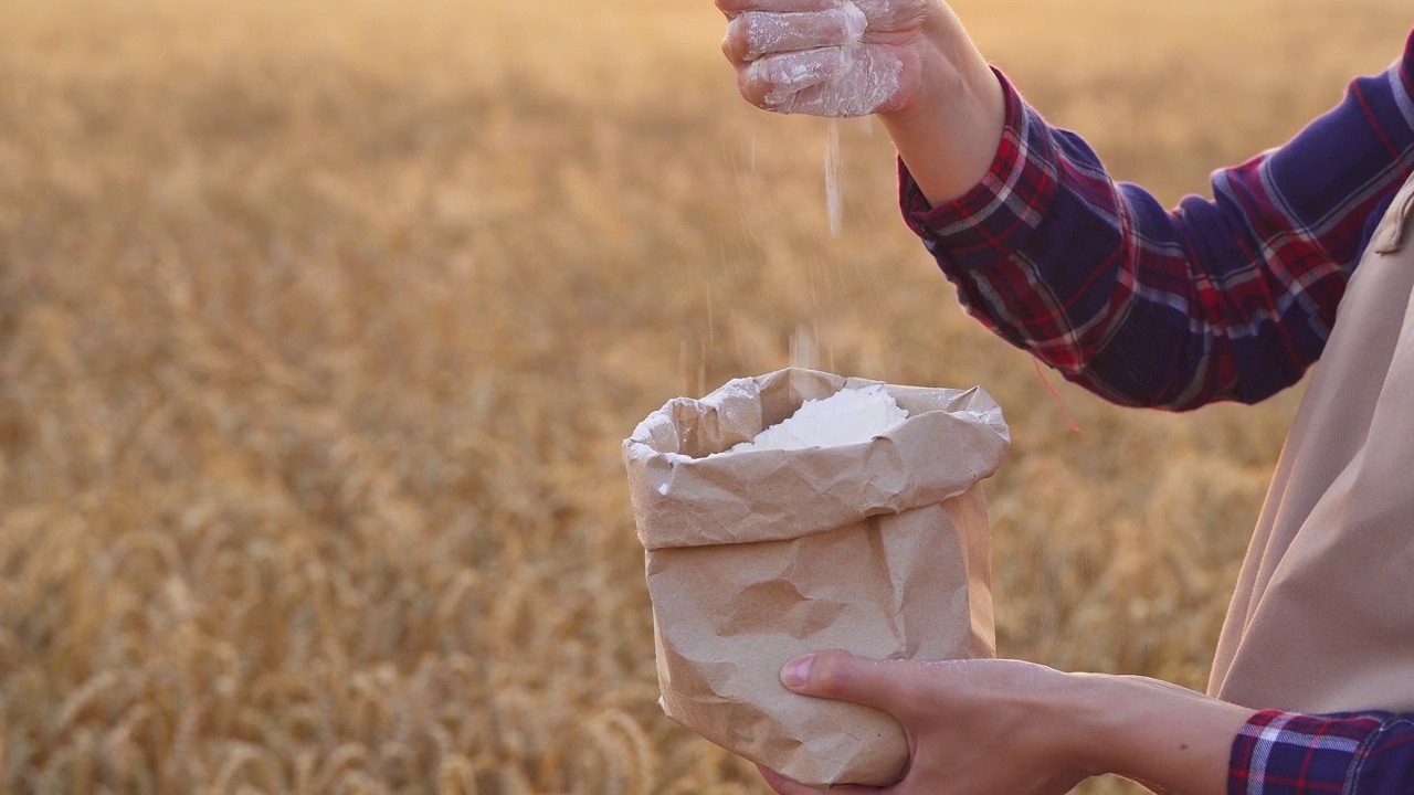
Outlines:
{"type": "Polygon", "coordinates": [[[1267,710],[1233,740],[1229,795],[1345,792],[1379,714],[1307,716],[1267,710]]]}

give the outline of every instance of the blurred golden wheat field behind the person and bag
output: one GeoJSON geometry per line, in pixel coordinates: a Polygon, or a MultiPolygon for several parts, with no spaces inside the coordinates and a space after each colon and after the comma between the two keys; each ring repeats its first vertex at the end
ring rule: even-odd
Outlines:
{"type": "MultiPolygon", "coordinates": [[[[964,0],[1165,201],[1396,0],[964,0]]],[[[1297,395],[1117,410],[963,317],[877,126],[710,0],[0,0],[0,794],[765,792],[655,704],[619,440],[788,364],[986,386],[1001,654],[1202,687],[1297,395]]],[[[1118,791],[1097,782],[1087,791],[1118,791]]]]}

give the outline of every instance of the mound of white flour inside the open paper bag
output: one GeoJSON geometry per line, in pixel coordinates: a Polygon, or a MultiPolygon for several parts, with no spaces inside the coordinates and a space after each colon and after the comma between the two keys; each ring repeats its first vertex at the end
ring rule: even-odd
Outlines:
{"type": "Polygon", "coordinates": [[[806,400],[789,419],[761,431],[755,440],[732,447],[731,451],[863,444],[906,419],[908,412],[901,409],[882,386],[841,389],[820,400],[806,400]]]}

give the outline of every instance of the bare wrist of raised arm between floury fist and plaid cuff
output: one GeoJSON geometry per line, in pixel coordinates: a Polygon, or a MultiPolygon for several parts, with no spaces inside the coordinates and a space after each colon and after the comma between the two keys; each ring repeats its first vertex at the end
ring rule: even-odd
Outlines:
{"type": "Polygon", "coordinates": [[[905,108],[880,113],[899,157],[935,207],[986,177],[1001,143],[1001,82],[946,6],[933,4],[918,35],[922,75],[905,108]]]}

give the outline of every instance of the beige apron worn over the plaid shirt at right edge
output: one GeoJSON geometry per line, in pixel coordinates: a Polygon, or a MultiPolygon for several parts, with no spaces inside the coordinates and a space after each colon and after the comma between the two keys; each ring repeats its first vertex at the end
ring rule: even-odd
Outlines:
{"type": "Polygon", "coordinates": [[[1243,563],[1208,692],[1414,712],[1414,178],[1350,279],[1243,563]]]}

